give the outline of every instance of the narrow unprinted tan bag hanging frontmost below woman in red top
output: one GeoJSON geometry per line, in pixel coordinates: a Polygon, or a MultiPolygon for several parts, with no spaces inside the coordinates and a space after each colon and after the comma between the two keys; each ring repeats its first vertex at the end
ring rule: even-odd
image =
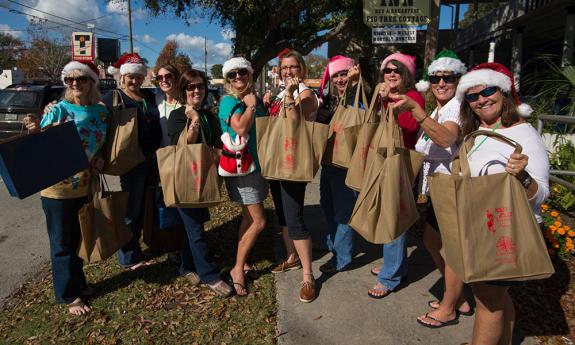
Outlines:
{"type": "MultiPolygon", "coordinates": [[[[392,136],[392,126],[387,127],[392,136]]],[[[366,241],[389,243],[419,218],[408,169],[409,150],[393,146],[374,151],[349,225],[366,241]],[[407,157],[407,159],[406,159],[407,157]]]]}

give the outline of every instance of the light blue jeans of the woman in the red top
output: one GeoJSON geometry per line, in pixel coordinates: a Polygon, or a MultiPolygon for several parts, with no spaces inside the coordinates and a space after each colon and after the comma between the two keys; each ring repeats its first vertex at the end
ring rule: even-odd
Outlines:
{"type": "Polygon", "coordinates": [[[377,280],[393,291],[407,278],[407,233],[383,245],[383,266],[377,280]]]}

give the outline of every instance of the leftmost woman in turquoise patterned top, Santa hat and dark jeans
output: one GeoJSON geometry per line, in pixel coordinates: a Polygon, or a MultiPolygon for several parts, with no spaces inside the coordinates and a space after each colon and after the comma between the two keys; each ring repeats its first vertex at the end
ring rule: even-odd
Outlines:
{"type": "MultiPolygon", "coordinates": [[[[88,160],[93,167],[102,169],[104,161],[98,158],[98,151],[106,140],[108,110],[100,104],[98,74],[98,68],[91,62],[68,63],[62,70],[62,81],[66,85],[64,100],[53,105],[41,122],[27,117],[24,124],[33,133],[40,128],[74,121],[88,160]]],[[[82,259],[77,255],[81,237],[78,212],[88,202],[89,181],[90,170],[86,170],[40,193],[50,240],[56,303],[66,303],[74,315],[90,312],[84,299],[90,292],[82,259]]]]}

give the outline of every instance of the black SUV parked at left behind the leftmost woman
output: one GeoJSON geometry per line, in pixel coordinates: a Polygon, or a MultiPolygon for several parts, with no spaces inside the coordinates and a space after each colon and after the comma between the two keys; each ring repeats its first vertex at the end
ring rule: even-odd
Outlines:
{"type": "Polygon", "coordinates": [[[62,98],[63,86],[13,84],[0,90],[0,139],[22,133],[27,115],[40,117],[46,104],[62,98]]]}

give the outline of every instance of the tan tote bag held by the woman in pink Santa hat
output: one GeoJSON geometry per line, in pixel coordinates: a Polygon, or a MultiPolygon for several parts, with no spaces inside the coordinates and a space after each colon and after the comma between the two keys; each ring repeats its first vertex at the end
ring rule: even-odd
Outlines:
{"type": "Polygon", "coordinates": [[[349,166],[359,128],[356,127],[367,121],[366,110],[360,108],[359,97],[362,96],[362,104],[368,106],[363,80],[360,76],[355,92],[353,105],[346,104],[346,94],[341,97],[331,121],[329,122],[328,140],[323,155],[323,164],[335,165],[342,168],[349,166]],[[350,128],[348,131],[344,129],[350,128]]]}

